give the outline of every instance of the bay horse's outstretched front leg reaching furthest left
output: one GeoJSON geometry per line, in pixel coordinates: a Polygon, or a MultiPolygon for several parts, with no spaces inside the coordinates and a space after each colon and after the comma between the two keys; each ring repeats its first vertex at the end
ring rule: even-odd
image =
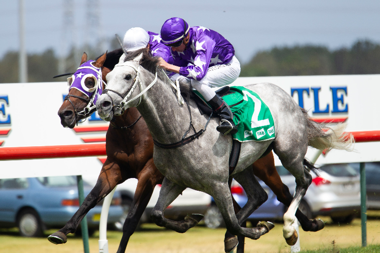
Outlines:
{"type": "Polygon", "coordinates": [[[99,178],[95,187],[87,195],[82,205],[74,216],[66,223],[66,225],[57,232],[49,235],[48,240],[54,244],[61,244],[67,241],[66,235],[74,233],[83,218],[87,215],[89,210],[93,208],[100,200],[102,200],[108,193],[110,193],[115,186],[123,182],[122,173],[118,164],[107,160],[104,162],[99,178]]]}

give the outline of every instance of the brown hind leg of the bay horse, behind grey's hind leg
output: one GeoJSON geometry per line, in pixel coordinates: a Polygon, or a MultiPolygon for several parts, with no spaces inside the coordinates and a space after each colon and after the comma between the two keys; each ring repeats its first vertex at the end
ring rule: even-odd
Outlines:
{"type": "MultiPolygon", "coordinates": [[[[282,183],[281,178],[278,175],[273,153],[271,152],[255,161],[252,164],[252,168],[255,176],[271,188],[281,203],[289,207],[291,201],[293,200],[293,196],[290,194],[289,188],[282,183]]],[[[302,214],[299,209],[295,212],[295,217],[297,217],[304,231],[316,232],[324,227],[323,222],[321,223],[319,220],[315,219],[309,220],[309,218],[302,214]]]]}

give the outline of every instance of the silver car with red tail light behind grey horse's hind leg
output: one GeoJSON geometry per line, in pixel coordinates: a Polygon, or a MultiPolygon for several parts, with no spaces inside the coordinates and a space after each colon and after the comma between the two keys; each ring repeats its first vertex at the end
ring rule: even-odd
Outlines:
{"type": "MultiPolygon", "coordinates": [[[[303,197],[300,209],[309,218],[330,216],[333,222],[350,223],[360,214],[360,176],[347,163],[326,164],[319,167],[319,176],[311,172],[312,184],[303,197]]],[[[293,194],[294,177],[278,166],[281,179],[293,194]]]]}

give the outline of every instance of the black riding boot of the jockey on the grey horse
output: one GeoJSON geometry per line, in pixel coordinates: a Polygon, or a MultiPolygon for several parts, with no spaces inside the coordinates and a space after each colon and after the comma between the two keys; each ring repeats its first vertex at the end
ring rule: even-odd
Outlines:
{"type": "Polygon", "coordinates": [[[221,124],[217,126],[216,130],[223,135],[236,134],[238,128],[234,124],[234,118],[230,107],[222,100],[218,95],[215,95],[208,103],[211,105],[214,112],[216,112],[220,118],[221,124]]]}

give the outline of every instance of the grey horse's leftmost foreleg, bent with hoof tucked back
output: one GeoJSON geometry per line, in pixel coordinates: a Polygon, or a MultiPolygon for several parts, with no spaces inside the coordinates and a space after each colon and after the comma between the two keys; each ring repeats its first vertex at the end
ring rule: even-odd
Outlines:
{"type": "Polygon", "coordinates": [[[170,228],[178,233],[184,233],[188,229],[196,226],[203,218],[203,215],[192,214],[186,216],[182,221],[172,221],[164,217],[164,210],[173,202],[182,191],[184,186],[177,185],[169,179],[164,178],[161,186],[160,196],[157,204],[153,208],[150,216],[152,220],[160,227],[170,228]]]}

